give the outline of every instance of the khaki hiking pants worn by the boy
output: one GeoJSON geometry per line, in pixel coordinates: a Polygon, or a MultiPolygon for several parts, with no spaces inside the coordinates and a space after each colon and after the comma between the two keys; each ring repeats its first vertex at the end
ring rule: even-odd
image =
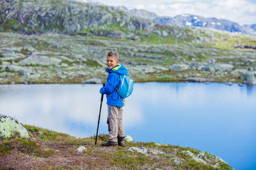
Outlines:
{"type": "Polygon", "coordinates": [[[117,142],[117,137],[124,137],[123,108],[108,105],[109,142],[117,142]]]}

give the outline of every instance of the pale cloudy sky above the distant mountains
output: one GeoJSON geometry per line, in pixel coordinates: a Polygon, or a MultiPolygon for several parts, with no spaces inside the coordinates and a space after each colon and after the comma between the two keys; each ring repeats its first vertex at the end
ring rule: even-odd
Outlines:
{"type": "Polygon", "coordinates": [[[97,0],[96,2],[108,6],[125,6],[129,10],[143,9],[158,16],[174,17],[191,14],[204,18],[226,19],[240,25],[256,24],[256,0],[97,0]]]}

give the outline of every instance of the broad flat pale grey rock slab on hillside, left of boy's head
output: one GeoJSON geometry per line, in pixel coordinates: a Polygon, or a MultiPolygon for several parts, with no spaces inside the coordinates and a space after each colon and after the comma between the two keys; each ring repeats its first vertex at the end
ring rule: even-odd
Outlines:
{"type": "Polygon", "coordinates": [[[58,66],[62,59],[48,56],[30,56],[18,62],[19,65],[41,65],[41,66],[58,66]]]}

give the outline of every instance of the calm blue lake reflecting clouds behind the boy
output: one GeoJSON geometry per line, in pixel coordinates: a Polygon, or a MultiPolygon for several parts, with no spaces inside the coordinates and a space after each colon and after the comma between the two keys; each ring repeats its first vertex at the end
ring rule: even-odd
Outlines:
{"type": "MultiPolygon", "coordinates": [[[[0,85],[0,114],[84,138],[96,134],[101,84],[0,85]]],[[[207,151],[234,169],[256,169],[256,86],[135,83],[125,134],[134,141],[207,151]]],[[[106,98],[99,133],[108,134],[106,98]]]]}

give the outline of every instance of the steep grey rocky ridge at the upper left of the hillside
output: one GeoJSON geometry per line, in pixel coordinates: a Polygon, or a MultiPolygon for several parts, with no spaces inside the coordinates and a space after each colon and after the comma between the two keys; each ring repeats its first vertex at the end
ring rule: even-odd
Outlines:
{"type": "MultiPolygon", "coordinates": [[[[94,3],[55,0],[3,0],[0,2],[0,30],[26,34],[93,33],[90,28],[105,29],[117,25],[127,31],[147,31],[154,24],[136,16],[126,14],[113,7],[94,3]]],[[[118,36],[120,33],[112,33],[118,36]]]]}

